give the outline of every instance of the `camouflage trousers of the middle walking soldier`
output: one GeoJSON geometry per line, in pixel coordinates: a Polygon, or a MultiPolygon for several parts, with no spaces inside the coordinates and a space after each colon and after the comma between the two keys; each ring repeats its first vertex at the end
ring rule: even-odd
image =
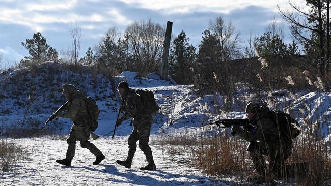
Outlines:
{"type": "Polygon", "coordinates": [[[134,128],[128,138],[129,152],[128,161],[132,162],[134,153],[137,148],[137,141],[139,140],[139,148],[144,152],[149,163],[154,163],[152,150],[148,145],[149,135],[151,132],[152,117],[142,116],[136,117],[132,120],[134,128]]]}

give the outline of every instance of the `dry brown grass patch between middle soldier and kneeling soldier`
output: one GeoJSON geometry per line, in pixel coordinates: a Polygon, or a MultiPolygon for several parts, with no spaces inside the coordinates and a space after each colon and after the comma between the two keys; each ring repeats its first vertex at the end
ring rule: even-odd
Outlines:
{"type": "Polygon", "coordinates": [[[245,174],[247,171],[244,170],[250,167],[245,143],[239,138],[229,138],[228,134],[219,135],[218,128],[214,128],[212,133],[210,136],[169,134],[153,143],[160,145],[172,156],[189,153],[189,163],[207,175],[245,174]]]}

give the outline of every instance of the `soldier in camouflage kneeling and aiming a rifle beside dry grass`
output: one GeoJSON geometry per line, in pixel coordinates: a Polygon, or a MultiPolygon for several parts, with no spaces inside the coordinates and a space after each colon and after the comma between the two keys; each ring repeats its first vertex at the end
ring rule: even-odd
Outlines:
{"type": "Polygon", "coordinates": [[[264,117],[269,112],[266,106],[251,102],[247,104],[245,112],[254,128],[247,130],[239,125],[233,125],[231,130],[250,142],[247,151],[250,152],[258,175],[249,178],[248,181],[256,184],[265,182],[266,167],[262,155],[269,157],[270,174],[283,177],[285,162],[292,152],[292,140],[280,137],[275,121],[264,117]]]}

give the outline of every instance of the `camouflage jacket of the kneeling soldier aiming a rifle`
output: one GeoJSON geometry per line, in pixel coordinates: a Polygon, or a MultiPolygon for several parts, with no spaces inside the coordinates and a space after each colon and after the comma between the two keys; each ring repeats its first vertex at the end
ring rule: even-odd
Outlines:
{"type": "Polygon", "coordinates": [[[240,128],[236,131],[236,134],[246,141],[258,142],[258,145],[262,149],[268,151],[274,151],[281,146],[287,149],[290,148],[292,146],[292,141],[281,139],[275,122],[270,118],[264,117],[268,112],[269,109],[265,107],[258,112],[252,120],[250,120],[256,127],[256,130],[250,132],[240,128]]]}

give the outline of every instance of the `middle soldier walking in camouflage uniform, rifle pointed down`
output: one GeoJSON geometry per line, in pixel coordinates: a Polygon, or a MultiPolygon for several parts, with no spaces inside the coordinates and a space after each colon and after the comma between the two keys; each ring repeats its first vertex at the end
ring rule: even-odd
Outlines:
{"type": "Polygon", "coordinates": [[[123,106],[120,109],[124,111],[125,114],[120,119],[118,119],[116,126],[120,126],[124,120],[132,117],[134,128],[128,139],[129,152],[126,160],[117,160],[116,162],[122,166],[125,166],[126,168],[131,168],[132,159],[137,148],[136,142],[139,140],[138,146],[144,152],[148,161],[148,165],[141,167],[140,169],[155,170],[156,166],[153,160],[152,150],[148,145],[153,119],[151,115],[144,112],[142,98],[137,95],[134,90],[129,88],[127,82],[121,81],[118,85],[118,91],[123,100],[123,106]]]}

